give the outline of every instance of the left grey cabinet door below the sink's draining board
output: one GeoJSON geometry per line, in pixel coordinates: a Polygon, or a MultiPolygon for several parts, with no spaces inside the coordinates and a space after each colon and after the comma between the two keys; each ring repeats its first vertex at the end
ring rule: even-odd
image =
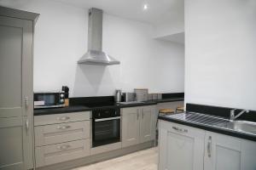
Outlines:
{"type": "Polygon", "coordinates": [[[160,121],[159,170],[203,170],[201,129],[160,121]]]}

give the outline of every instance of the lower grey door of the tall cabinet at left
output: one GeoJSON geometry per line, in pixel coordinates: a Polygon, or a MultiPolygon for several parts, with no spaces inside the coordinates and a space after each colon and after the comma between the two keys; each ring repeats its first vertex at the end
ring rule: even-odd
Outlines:
{"type": "Polygon", "coordinates": [[[32,168],[32,119],[0,118],[0,169],[32,168]]]}

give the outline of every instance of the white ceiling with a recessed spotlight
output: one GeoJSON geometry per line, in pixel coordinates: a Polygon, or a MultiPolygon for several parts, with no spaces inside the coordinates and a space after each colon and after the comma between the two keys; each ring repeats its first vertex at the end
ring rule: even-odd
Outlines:
{"type": "Polygon", "coordinates": [[[183,20],[184,0],[55,0],[82,8],[102,8],[107,14],[159,25],[183,20]],[[143,4],[148,10],[143,10],[143,4]]]}

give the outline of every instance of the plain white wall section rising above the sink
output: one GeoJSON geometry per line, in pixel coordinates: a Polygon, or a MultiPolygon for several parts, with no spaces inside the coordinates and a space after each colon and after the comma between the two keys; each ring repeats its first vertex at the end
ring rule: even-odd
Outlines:
{"type": "Polygon", "coordinates": [[[256,110],[256,1],[185,0],[185,101],[256,110]]]}

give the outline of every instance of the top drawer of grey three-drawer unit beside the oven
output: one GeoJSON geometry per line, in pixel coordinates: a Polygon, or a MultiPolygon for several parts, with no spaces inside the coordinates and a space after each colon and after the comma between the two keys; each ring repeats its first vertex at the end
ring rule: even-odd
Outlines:
{"type": "Polygon", "coordinates": [[[90,120],[90,111],[63,113],[55,115],[35,116],[34,125],[47,125],[61,122],[76,122],[90,120]]]}

